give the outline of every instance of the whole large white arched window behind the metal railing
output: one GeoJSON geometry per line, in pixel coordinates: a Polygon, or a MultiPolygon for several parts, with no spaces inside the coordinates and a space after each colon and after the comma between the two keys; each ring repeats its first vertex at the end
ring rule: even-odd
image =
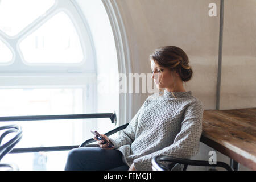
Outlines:
{"type": "MultiPolygon", "coordinates": [[[[102,82],[111,86],[109,73],[118,73],[117,51],[100,0],[0,1],[1,116],[118,115],[118,93],[98,92],[102,82]]],[[[115,127],[108,119],[18,124],[23,127],[18,148],[81,144],[92,137],[90,129],[105,133],[115,127]]],[[[24,170],[64,168],[67,151],[44,155],[47,164],[41,168],[35,154],[8,154],[1,162],[24,170]]]]}

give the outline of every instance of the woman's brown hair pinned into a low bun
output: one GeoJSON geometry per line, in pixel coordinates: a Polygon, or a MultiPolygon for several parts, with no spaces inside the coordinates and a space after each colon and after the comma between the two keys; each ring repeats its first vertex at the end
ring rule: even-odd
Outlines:
{"type": "Polygon", "coordinates": [[[188,64],[189,60],[187,54],[181,48],[176,46],[161,47],[150,55],[150,61],[151,60],[155,61],[155,63],[163,68],[179,73],[182,81],[187,82],[191,80],[193,71],[188,64]]]}

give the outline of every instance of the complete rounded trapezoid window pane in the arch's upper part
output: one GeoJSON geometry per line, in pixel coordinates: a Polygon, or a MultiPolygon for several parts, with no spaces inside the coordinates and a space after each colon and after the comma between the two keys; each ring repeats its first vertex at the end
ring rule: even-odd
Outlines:
{"type": "Polygon", "coordinates": [[[84,55],[71,19],[60,12],[20,43],[29,63],[79,63],[84,55]]]}

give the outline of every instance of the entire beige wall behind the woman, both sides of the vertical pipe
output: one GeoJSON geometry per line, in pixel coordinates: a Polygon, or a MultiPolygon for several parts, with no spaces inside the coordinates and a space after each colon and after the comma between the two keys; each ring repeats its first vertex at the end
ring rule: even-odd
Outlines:
{"type": "MultiPolygon", "coordinates": [[[[114,1],[114,0],[112,0],[114,1]]],[[[149,73],[148,55],[160,46],[182,48],[194,75],[185,85],[216,109],[220,0],[115,0],[129,42],[134,73],[149,73]],[[217,17],[208,15],[209,3],[217,4],[217,17]]],[[[225,0],[221,78],[221,109],[255,107],[256,1],[225,0]]],[[[141,104],[147,94],[142,94],[141,104]]],[[[136,113],[139,107],[133,107],[136,113]]],[[[208,160],[212,148],[200,143],[195,159],[208,160]]],[[[229,158],[217,152],[217,160],[229,158]]],[[[247,168],[241,166],[242,170],[247,168]]]]}

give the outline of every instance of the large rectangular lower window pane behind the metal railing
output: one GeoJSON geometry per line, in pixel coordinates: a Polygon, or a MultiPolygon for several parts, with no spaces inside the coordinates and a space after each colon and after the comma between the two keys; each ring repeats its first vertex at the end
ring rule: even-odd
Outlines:
{"type": "MultiPolygon", "coordinates": [[[[81,114],[82,88],[0,89],[1,116],[81,114]]],[[[22,140],[15,147],[80,144],[82,119],[0,122],[22,126],[22,140]],[[80,126],[76,133],[73,129],[80,126]]]]}

